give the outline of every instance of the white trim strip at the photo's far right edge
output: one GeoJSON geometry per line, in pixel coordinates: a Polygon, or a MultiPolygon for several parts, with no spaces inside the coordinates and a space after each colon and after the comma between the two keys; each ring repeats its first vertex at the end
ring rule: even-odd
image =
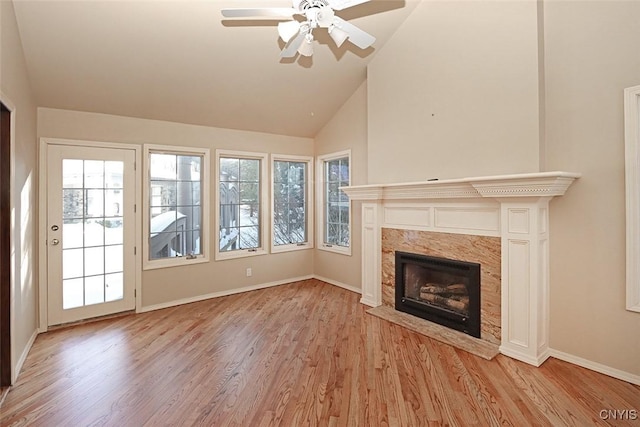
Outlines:
{"type": "Polygon", "coordinates": [[[627,310],[640,312],[640,86],[624,91],[627,310]]]}

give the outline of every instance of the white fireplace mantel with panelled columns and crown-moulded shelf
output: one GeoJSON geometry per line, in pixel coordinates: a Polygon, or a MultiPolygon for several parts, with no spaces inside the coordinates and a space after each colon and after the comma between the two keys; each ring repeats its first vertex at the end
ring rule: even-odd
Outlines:
{"type": "Polygon", "coordinates": [[[549,201],[579,177],[540,172],[342,187],[362,202],[360,302],[383,304],[383,228],[497,237],[498,349],[540,366],[549,357],[549,201]]]}

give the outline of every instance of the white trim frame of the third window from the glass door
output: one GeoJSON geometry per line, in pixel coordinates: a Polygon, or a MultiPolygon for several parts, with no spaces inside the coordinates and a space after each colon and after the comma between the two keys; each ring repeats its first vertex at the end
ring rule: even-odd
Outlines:
{"type": "Polygon", "coordinates": [[[270,209],[270,219],[269,225],[271,227],[271,253],[280,253],[280,252],[290,252],[290,251],[299,251],[305,249],[313,249],[314,242],[314,223],[313,223],[313,157],[307,156],[291,156],[286,154],[272,154],[271,155],[271,209],[270,209]],[[306,220],[307,220],[307,241],[304,243],[292,243],[290,245],[274,245],[274,235],[275,235],[275,227],[273,225],[275,219],[275,189],[274,189],[274,179],[275,179],[275,168],[273,164],[276,161],[286,161],[286,162],[304,162],[307,164],[307,189],[306,189],[306,220]]]}

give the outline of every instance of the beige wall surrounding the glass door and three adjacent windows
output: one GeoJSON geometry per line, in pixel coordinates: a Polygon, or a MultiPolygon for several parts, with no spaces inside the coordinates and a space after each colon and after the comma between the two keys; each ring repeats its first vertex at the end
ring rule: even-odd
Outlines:
{"type": "MultiPolygon", "coordinates": [[[[313,155],[313,140],[257,132],[210,128],[105,114],[38,109],[38,136],[131,144],[207,147],[211,175],[217,170],[215,149],[313,155]]],[[[211,203],[217,196],[211,186],[211,203]]],[[[213,212],[213,205],[211,211],[213,212]]],[[[211,227],[214,222],[211,221],[211,227]]],[[[214,230],[211,230],[211,234],[214,230]]],[[[213,250],[213,247],[211,248],[213,250]]],[[[226,292],[313,274],[313,251],[303,250],[214,261],[185,267],[146,270],[142,275],[143,307],[226,292]],[[253,275],[246,277],[246,268],[253,275]],[[188,280],[185,280],[188,279],[188,280]]]]}

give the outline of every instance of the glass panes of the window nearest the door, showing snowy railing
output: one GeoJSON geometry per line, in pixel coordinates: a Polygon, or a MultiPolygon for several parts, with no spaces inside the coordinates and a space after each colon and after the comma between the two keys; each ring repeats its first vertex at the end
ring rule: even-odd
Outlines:
{"type": "Polygon", "coordinates": [[[149,154],[150,259],[201,255],[202,156],[149,154]]]}

